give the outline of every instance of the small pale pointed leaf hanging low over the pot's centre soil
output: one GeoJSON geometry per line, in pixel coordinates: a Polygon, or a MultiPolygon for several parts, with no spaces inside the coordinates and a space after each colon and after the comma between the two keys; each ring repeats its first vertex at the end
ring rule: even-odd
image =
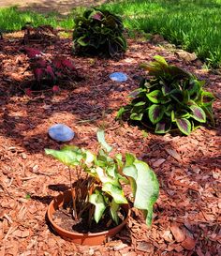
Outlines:
{"type": "Polygon", "coordinates": [[[89,202],[93,203],[96,206],[94,217],[96,223],[98,223],[107,207],[102,193],[96,189],[95,193],[90,195],[89,202]]]}

